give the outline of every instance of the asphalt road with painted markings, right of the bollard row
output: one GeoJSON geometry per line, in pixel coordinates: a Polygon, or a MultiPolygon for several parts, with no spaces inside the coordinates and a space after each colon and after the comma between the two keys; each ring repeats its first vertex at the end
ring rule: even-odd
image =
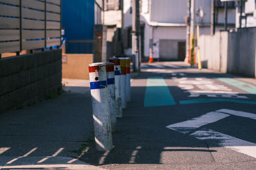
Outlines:
{"type": "Polygon", "coordinates": [[[91,147],[80,160],[108,169],[256,168],[255,79],[177,62],[141,67],[115,148],[91,147]]]}

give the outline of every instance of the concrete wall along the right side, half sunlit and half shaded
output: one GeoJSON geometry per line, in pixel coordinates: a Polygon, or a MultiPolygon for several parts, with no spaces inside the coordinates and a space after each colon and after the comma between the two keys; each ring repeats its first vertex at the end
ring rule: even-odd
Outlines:
{"type": "Polygon", "coordinates": [[[256,77],[256,27],[200,36],[202,66],[223,73],[256,77]]]}

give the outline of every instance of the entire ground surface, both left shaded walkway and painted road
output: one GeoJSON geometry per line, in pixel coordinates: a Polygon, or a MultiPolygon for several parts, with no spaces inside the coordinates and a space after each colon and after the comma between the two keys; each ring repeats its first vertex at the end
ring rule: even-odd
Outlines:
{"type": "Polygon", "coordinates": [[[0,166],[255,169],[255,79],[183,62],[142,68],[113,150],[95,150],[88,81],[64,80],[63,95],[0,115],[0,166]]]}

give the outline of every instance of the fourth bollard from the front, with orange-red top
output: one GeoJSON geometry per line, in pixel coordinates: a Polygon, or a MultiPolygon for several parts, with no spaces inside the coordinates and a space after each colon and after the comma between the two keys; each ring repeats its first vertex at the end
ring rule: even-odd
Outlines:
{"type": "Polygon", "coordinates": [[[125,58],[120,59],[120,66],[121,66],[121,97],[122,97],[122,108],[127,107],[126,103],[126,60],[125,58]]]}

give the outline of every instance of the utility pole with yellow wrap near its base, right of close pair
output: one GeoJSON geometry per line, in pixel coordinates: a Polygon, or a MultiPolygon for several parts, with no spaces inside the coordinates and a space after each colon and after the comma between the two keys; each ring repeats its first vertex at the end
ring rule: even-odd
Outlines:
{"type": "Polygon", "coordinates": [[[191,0],[191,21],[190,21],[190,65],[195,64],[195,0],[191,0]]]}

